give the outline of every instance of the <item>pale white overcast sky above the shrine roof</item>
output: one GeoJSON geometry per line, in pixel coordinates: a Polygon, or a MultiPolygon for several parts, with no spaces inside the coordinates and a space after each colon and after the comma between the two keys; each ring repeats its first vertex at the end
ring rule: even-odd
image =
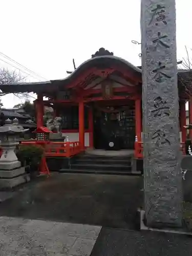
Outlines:
{"type": "MultiPolygon", "coordinates": [[[[140,0],[0,0],[0,52],[49,79],[67,76],[99,48],[136,66],[141,41],[140,0]]],[[[191,42],[191,0],[176,0],[178,59],[191,42]],[[186,21],[186,19],[188,21],[186,21]]],[[[6,60],[0,55],[1,59],[6,60]]],[[[11,68],[1,61],[2,67],[11,68]]],[[[6,60],[7,61],[7,60],[6,60]]],[[[35,80],[29,76],[28,80],[35,80]]],[[[37,81],[37,80],[36,80],[37,81]]],[[[5,108],[22,100],[2,98],[5,108]]],[[[24,100],[23,100],[24,101],[24,100]]]]}

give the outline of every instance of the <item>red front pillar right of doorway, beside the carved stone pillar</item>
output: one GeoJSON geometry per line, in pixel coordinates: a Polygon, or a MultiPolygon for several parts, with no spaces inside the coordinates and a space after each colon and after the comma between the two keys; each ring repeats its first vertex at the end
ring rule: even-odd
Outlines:
{"type": "Polygon", "coordinates": [[[135,130],[137,140],[141,142],[142,117],[141,117],[141,99],[135,100],[135,130]]]}

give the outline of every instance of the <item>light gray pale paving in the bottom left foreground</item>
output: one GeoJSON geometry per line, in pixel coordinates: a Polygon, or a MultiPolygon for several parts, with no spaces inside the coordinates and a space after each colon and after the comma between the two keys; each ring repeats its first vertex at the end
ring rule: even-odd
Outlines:
{"type": "Polygon", "coordinates": [[[89,256],[100,227],[0,217],[1,256],[89,256]]]}

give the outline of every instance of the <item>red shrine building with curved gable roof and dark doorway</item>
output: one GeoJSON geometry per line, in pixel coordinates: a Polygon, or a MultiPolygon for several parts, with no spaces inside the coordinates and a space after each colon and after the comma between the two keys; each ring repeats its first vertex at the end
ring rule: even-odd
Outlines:
{"type": "MultiPolygon", "coordinates": [[[[187,77],[187,70],[178,70],[181,150],[186,141],[187,101],[192,123],[187,77]]],[[[64,79],[0,84],[0,89],[4,93],[36,93],[37,128],[44,125],[44,106],[51,106],[54,116],[62,118],[62,133],[70,142],[79,142],[79,152],[88,147],[133,150],[135,158],[143,157],[141,67],[108,50],[100,48],[64,79]]],[[[156,115],[166,109],[165,103],[161,98],[154,102],[156,115]]]]}

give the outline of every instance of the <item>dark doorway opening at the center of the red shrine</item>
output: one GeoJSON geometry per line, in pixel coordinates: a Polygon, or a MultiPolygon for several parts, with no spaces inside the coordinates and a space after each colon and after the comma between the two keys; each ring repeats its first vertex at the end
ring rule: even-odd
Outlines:
{"type": "Polygon", "coordinates": [[[95,148],[105,150],[133,149],[134,142],[134,105],[94,109],[95,148]]]}

